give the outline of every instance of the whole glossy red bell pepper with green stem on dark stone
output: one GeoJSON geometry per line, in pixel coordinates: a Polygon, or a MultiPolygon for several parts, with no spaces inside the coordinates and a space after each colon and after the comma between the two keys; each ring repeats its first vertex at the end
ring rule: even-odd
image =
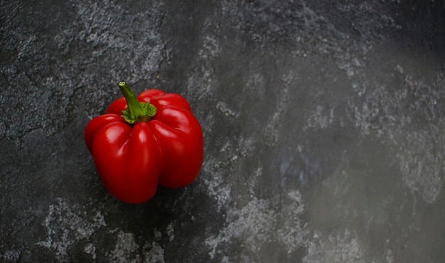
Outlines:
{"type": "Polygon", "coordinates": [[[179,94],[134,91],[85,128],[85,143],[107,190],[127,203],[149,201],[158,184],[168,188],[195,181],[204,159],[203,130],[179,94]],[[128,105],[128,106],[127,106],[128,105]]]}

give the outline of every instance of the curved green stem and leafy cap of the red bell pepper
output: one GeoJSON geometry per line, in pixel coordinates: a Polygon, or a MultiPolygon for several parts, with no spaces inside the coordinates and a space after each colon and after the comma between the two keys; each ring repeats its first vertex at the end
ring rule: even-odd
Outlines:
{"type": "Polygon", "coordinates": [[[124,94],[128,107],[122,111],[122,118],[127,123],[139,123],[150,121],[156,114],[156,107],[149,102],[140,102],[132,88],[125,82],[119,82],[119,89],[124,94]]]}

